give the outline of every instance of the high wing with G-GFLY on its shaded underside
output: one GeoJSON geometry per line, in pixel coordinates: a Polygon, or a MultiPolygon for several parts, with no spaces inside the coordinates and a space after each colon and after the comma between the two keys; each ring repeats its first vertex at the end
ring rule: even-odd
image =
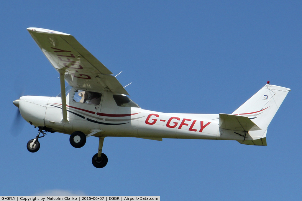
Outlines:
{"type": "Polygon", "coordinates": [[[70,86],[129,95],[111,71],[72,35],[42,28],[27,30],[56,71],[65,72],[70,86]]]}

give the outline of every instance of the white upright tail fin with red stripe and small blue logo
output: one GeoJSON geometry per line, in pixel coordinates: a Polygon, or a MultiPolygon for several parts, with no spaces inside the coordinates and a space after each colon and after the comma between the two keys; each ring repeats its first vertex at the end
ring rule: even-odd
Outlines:
{"type": "MultiPolygon", "coordinates": [[[[249,131],[252,140],[246,141],[255,141],[266,137],[267,127],[289,91],[290,89],[282,86],[266,84],[232,113],[232,115],[248,117],[261,129],[249,131]]],[[[249,144],[246,141],[239,143],[249,144]]],[[[250,144],[252,145],[252,142],[250,144]]]]}

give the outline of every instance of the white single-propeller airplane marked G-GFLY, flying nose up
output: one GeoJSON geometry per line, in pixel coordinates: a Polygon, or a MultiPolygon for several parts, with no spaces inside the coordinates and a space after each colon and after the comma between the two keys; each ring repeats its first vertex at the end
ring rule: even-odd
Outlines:
{"type": "Polygon", "coordinates": [[[46,132],[69,134],[75,148],[84,146],[87,137],[98,137],[98,152],[92,157],[96,168],[104,168],[108,162],[102,152],[105,137],[236,140],[266,146],[268,125],[290,91],[268,81],[232,114],[144,110],[129,99],[116,76],[72,35],[34,27],[27,30],[59,72],[61,88],[56,97],[21,96],[13,101],[21,116],[38,128],[27,149],[37,152],[39,139],[46,132]]]}

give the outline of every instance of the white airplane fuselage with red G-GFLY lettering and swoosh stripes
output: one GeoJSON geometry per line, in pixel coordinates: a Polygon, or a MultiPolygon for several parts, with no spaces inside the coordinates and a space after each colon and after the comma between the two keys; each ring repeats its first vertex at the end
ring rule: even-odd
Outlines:
{"type": "Polygon", "coordinates": [[[67,124],[61,122],[62,102],[61,97],[58,96],[22,96],[19,101],[20,113],[27,122],[34,126],[66,134],[82,131],[88,135],[92,132],[91,130],[99,129],[101,132],[95,133],[93,136],[154,139],[243,139],[242,136],[233,134],[233,132],[226,134],[227,130],[223,132],[224,135],[221,135],[218,114],[162,113],[144,110],[135,103],[120,105],[115,98],[122,95],[110,91],[98,92],[101,93],[99,104],[87,104],[76,100],[76,96],[81,90],[72,88],[66,96],[69,120],[67,124]]]}

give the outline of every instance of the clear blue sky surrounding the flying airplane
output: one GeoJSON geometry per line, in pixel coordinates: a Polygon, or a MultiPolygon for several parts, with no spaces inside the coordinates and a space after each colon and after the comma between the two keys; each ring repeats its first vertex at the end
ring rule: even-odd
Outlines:
{"type": "Polygon", "coordinates": [[[0,194],[160,195],[162,200],[299,200],[300,1],[5,1],[1,16],[0,194]],[[232,113],[267,80],[291,88],[268,127],[268,146],[236,141],[98,138],[75,149],[37,129],[10,134],[25,95],[56,96],[59,75],[27,27],[72,34],[127,85],[143,109],[232,113]],[[58,193],[59,194],[59,193],[58,193]]]}

